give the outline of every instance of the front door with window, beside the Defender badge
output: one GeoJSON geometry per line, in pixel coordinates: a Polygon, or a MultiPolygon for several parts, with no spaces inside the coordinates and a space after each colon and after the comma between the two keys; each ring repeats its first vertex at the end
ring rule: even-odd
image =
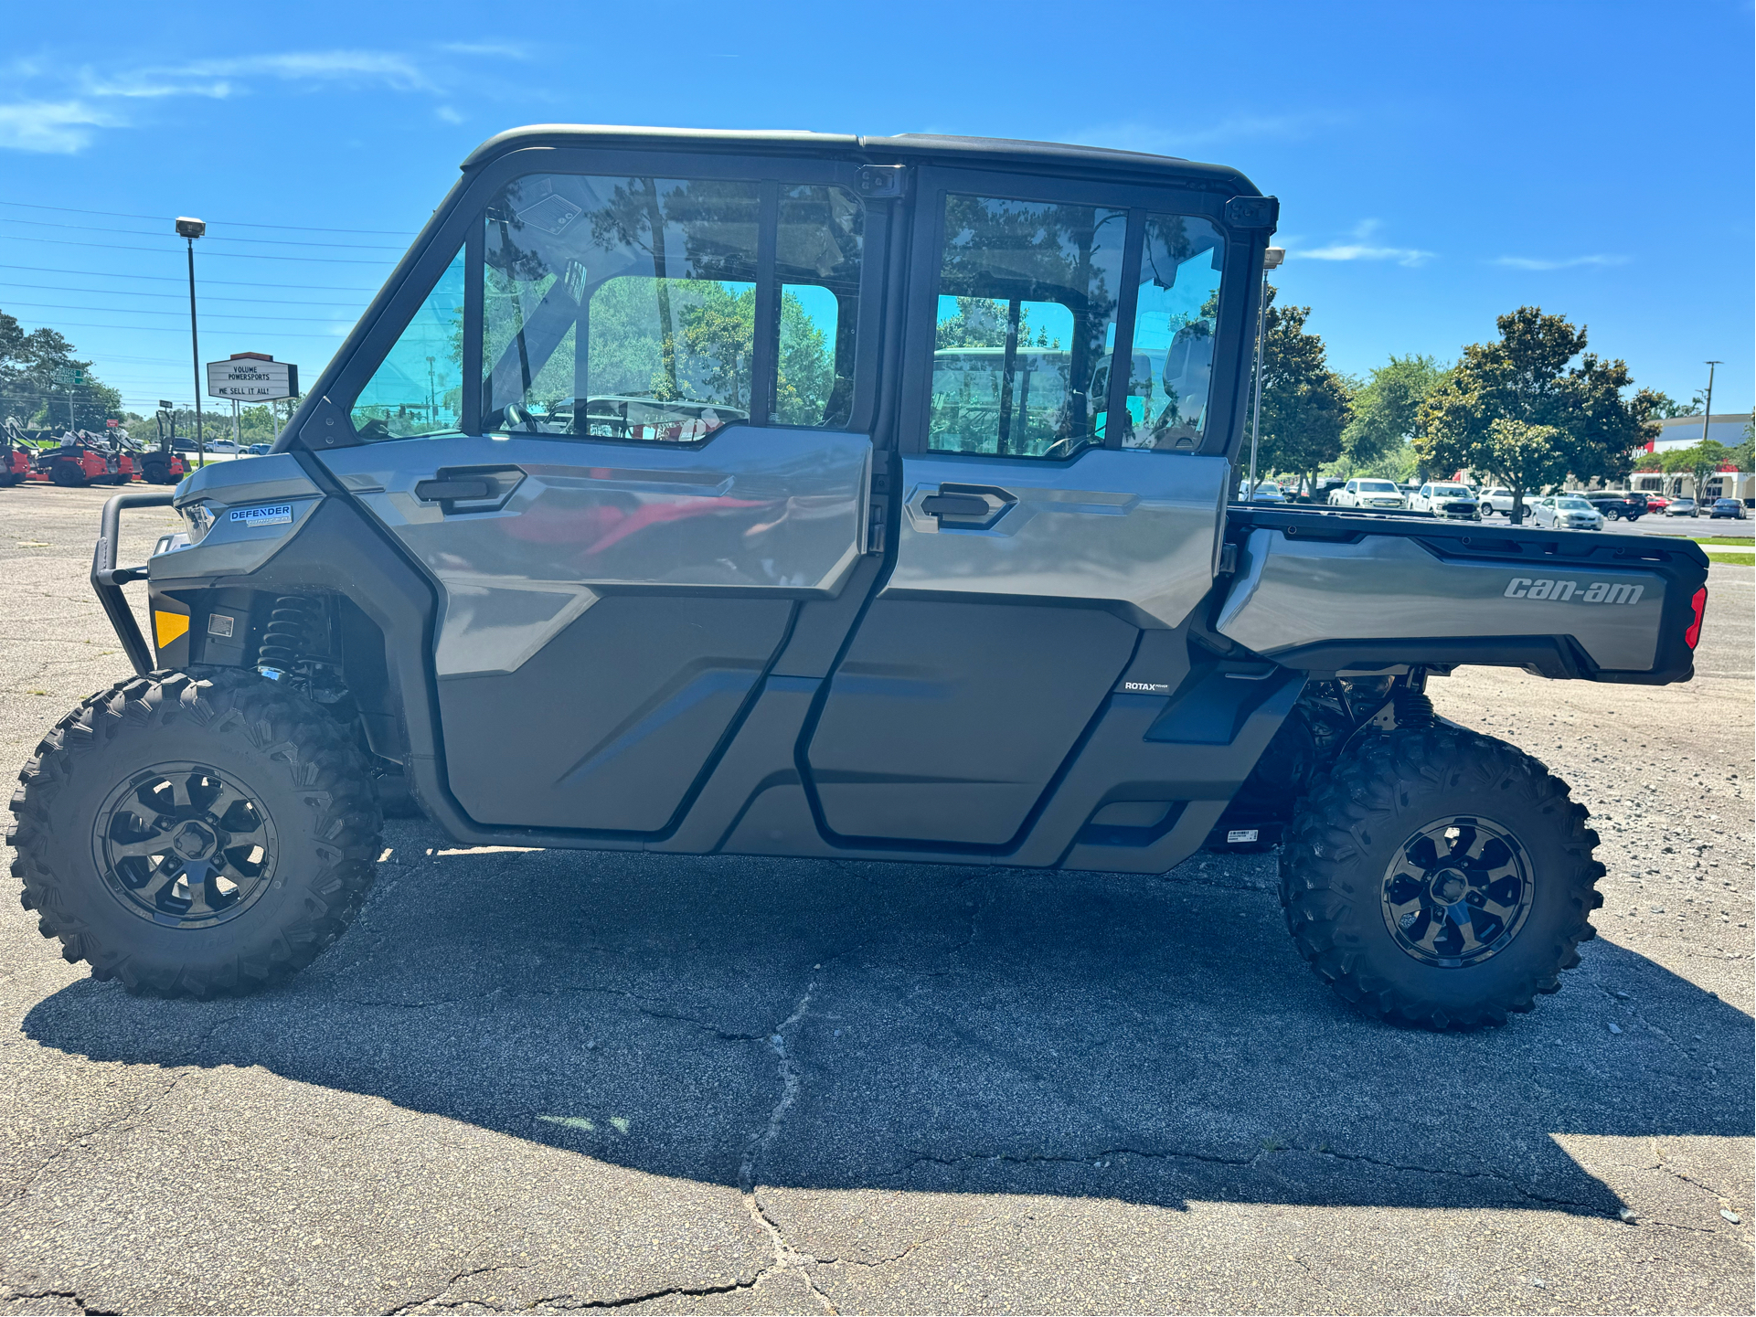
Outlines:
{"type": "Polygon", "coordinates": [[[811,162],[539,155],[323,460],[439,587],[464,811],[657,834],[866,551],[866,212],[811,162]]]}

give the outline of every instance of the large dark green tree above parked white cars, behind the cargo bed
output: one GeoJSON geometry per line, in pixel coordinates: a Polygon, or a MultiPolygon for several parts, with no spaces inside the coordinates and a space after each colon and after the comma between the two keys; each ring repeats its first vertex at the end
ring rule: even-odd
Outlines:
{"type": "Polygon", "coordinates": [[[1628,367],[1587,353],[1586,332],[1563,316],[1526,306],[1496,323],[1500,341],[1468,344],[1450,378],[1421,406],[1421,469],[1493,474],[1514,486],[1515,516],[1522,520],[1522,495],[1535,486],[1519,485],[1514,472],[1494,465],[1503,450],[1496,450],[1493,423],[1512,420],[1559,435],[1552,443],[1561,450],[1561,474],[1624,479],[1640,448],[1658,434],[1651,421],[1658,395],[1640,390],[1624,399],[1628,367]]]}

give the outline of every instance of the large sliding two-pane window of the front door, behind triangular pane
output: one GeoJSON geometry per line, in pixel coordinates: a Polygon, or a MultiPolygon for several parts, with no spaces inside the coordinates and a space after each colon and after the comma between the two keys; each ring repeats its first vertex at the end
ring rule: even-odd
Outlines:
{"type": "MultiPolygon", "coordinates": [[[[767,184],[776,186],[776,184],[767,184]]],[[[488,207],[483,423],[518,434],[688,443],[752,418],[843,425],[853,397],[864,211],[780,184],[762,293],[764,184],[536,174],[488,207]],[[755,379],[759,295],[778,299],[755,379]]]]}

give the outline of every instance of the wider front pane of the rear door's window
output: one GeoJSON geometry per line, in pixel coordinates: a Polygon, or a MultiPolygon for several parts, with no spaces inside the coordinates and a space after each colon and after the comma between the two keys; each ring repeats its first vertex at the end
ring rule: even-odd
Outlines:
{"type": "Polygon", "coordinates": [[[946,195],[929,448],[1064,458],[1103,441],[1126,228],[1126,211],[946,195]]]}

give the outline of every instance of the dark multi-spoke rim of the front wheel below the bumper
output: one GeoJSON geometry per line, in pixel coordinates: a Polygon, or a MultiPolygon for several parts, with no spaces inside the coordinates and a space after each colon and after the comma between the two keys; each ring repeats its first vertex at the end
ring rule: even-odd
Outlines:
{"type": "Polygon", "coordinates": [[[274,818],[255,792],[205,764],[155,764],[111,792],[91,853],[130,913],[205,929],[249,910],[274,883],[274,818]]]}

